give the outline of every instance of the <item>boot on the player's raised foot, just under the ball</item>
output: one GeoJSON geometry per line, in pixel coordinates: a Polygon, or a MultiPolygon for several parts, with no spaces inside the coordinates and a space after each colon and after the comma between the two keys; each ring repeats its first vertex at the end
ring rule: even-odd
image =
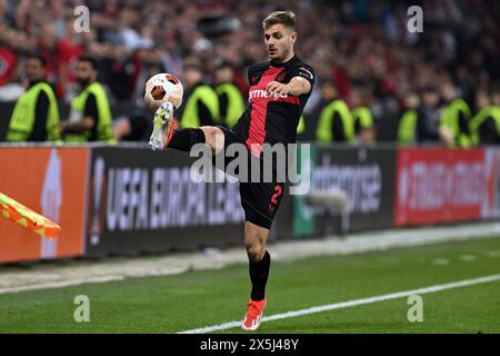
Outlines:
{"type": "Polygon", "coordinates": [[[172,138],[173,130],[177,128],[173,118],[173,105],[163,102],[154,112],[153,131],[149,138],[149,146],[152,150],[162,150],[172,138]]]}

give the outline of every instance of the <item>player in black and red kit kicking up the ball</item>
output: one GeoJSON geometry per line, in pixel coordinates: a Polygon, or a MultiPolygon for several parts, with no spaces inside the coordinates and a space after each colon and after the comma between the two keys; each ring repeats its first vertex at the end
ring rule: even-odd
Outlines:
{"type": "MultiPolygon", "coordinates": [[[[262,160],[263,144],[296,142],[297,126],[311,93],[314,72],[293,51],[298,37],[293,12],[274,11],[263,20],[262,27],[269,60],[250,66],[249,103],[238,122],[230,129],[208,126],[178,129],[173,106],[167,102],[154,115],[154,127],[161,129],[151,135],[152,149],[190,151],[196,144],[207,144],[217,154],[239,142],[248,149],[251,159],[262,160]]],[[[281,201],[282,188],[283,184],[278,181],[240,181],[246,217],[244,246],[252,284],[247,314],[241,323],[244,330],[259,328],[266,307],[266,284],[271,263],[266,243],[281,201]]]]}

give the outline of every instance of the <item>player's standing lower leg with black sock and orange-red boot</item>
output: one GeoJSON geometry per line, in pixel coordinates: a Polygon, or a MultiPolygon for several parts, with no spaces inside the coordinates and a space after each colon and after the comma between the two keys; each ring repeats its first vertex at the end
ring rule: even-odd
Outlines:
{"type": "Polygon", "coordinates": [[[243,330],[256,330],[262,322],[262,314],[266,308],[266,284],[268,283],[271,256],[266,250],[269,229],[244,222],[244,247],[249,258],[250,280],[252,291],[247,305],[247,314],[241,322],[243,330]]]}

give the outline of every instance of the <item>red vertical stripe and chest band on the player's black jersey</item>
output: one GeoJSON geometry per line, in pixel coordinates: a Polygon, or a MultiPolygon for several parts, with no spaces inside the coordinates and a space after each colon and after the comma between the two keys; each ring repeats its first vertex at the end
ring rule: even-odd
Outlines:
{"type": "Polygon", "coordinates": [[[267,97],[267,85],[273,81],[276,77],[283,70],[283,68],[269,67],[269,69],[262,75],[259,82],[254,86],[251,86],[249,89],[249,102],[252,105],[252,110],[250,112],[249,136],[244,144],[247,145],[252,156],[259,157],[260,152],[262,151],[262,144],[266,139],[266,116],[268,111],[268,103],[290,102],[299,105],[299,98],[297,97],[267,97]]]}

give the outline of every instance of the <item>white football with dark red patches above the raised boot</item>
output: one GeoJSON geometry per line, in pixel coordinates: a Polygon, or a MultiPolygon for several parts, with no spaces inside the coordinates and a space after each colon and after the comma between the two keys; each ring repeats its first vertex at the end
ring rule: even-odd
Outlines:
{"type": "Polygon", "coordinates": [[[144,102],[156,111],[163,102],[171,102],[176,109],[182,105],[183,87],[176,76],[154,75],[146,82],[144,102]]]}

